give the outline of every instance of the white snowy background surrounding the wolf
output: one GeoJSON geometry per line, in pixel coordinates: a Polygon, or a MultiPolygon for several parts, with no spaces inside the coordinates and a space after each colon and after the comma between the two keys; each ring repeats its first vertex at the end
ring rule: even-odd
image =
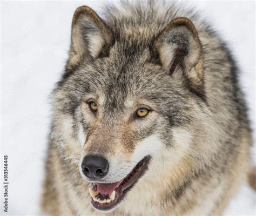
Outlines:
{"type": "MultiPolygon", "coordinates": [[[[1,169],[7,154],[8,215],[39,214],[50,124],[48,95],[68,57],[72,15],[79,5],[97,11],[103,2],[1,2],[1,169]]],[[[202,11],[233,50],[255,129],[255,2],[188,4],[202,11]]],[[[252,152],[255,163],[255,143],[252,152]]],[[[1,185],[2,178],[1,174],[1,185]]],[[[2,192],[0,196],[0,212],[5,215],[2,192]]],[[[245,183],[225,215],[256,215],[255,199],[255,192],[245,183]]]]}

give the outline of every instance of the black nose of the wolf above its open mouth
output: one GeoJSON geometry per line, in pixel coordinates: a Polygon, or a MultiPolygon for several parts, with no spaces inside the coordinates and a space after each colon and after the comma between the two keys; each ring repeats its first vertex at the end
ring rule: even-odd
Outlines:
{"type": "Polygon", "coordinates": [[[109,162],[100,156],[85,156],[82,161],[82,171],[90,179],[99,179],[109,171],[109,162]]]}

